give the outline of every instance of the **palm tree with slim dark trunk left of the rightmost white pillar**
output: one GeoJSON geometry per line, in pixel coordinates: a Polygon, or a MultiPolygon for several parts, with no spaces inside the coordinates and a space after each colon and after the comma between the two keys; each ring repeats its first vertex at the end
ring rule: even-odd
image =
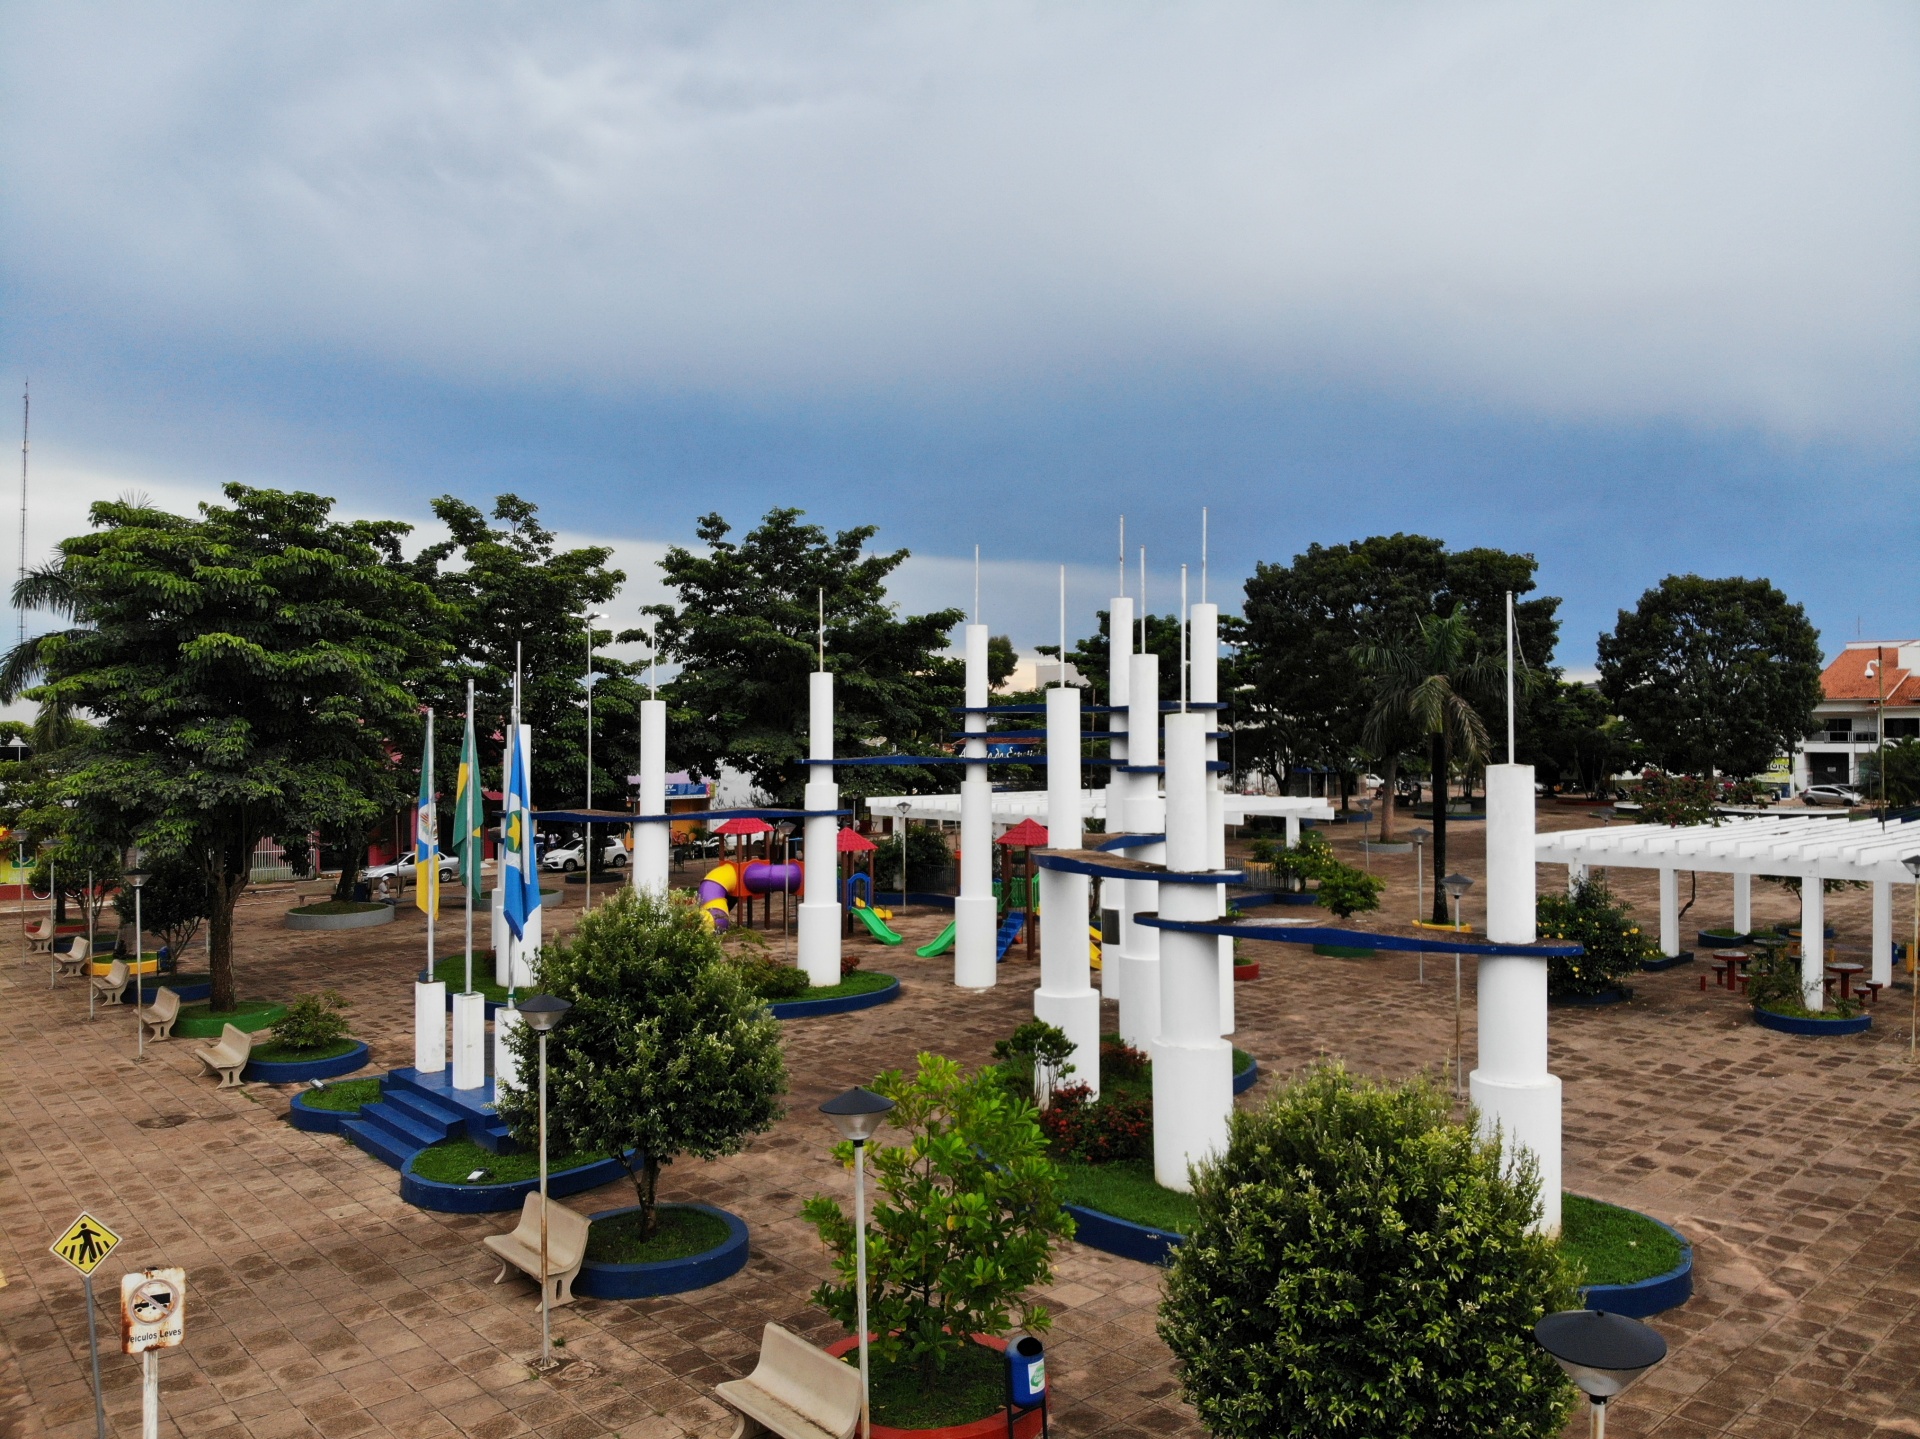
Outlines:
{"type": "Polygon", "coordinates": [[[1486,701],[1505,676],[1494,655],[1478,653],[1478,636],[1467,607],[1452,615],[1425,615],[1419,630],[1394,646],[1354,646],[1354,663],[1373,678],[1373,709],[1363,730],[1375,753],[1400,753],[1409,736],[1425,736],[1434,768],[1434,909],[1432,922],[1446,924],[1446,799],[1448,765],[1486,755],[1486,720],[1475,701],[1486,701]]]}

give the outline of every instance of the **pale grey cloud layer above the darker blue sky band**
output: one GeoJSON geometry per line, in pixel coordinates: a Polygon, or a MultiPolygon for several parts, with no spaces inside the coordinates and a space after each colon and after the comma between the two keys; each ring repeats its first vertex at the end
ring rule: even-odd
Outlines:
{"type": "Polygon", "coordinates": [[[35,315],[455,384],[1219,369],[1878,442],[1916,40],[1899,4],[15,6],[0,254],[35,315]]]}

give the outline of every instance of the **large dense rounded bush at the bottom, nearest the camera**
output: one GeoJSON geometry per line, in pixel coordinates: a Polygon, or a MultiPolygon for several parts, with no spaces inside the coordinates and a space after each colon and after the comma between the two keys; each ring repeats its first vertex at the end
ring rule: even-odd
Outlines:
{"type": "Polygon", "coordinates": [[[1530,1162],[1427,1080],[1308,1072],[1194,1170],[1160,1335],[1221,1439],[1548,1439],[1572,1391],[1532,1326],[1576,1305],[1530,1162]]]}

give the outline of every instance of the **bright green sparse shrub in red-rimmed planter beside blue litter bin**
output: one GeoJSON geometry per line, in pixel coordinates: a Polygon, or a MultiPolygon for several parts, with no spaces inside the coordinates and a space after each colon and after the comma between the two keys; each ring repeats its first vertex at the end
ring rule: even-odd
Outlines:
{"type": "MultiPolygon", "coordinates": [[[[912,1078],[889,1070],[874,1089],[895,1101],[904,1145],[868,1141],[879,1199],[868,1222],[868,1326],[883,1362],[910,1362],[924,1393],[972,1343],[1018,1322],[1035,1333],[1052,1320],[1029,1291],[1052,1280],[1052,1253],[1073,1237],[1060,1208],[1060,1170],[1031,1103],[983,1070],[966,1076],[941,1055],[920,1055],[912,1078]]],[[[852,1162],[852,1145],[833,1149],[852,1162]]],[[[852,1331],[854,1228],[826,1195],[801,1214],[833,1255],[837,1283],[814,1303],[852,1331]]]]}

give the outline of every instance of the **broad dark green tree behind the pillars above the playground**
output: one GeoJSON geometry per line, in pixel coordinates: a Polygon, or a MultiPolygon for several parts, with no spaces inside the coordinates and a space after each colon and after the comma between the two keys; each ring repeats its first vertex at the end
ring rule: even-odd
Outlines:
{"type": "MultiPolygon", "coordinates": [[[[803,524],[799,509],[772,509],[743,540],[720,515],[699,521],[707,553],[674,546],[660,561],[680,603],[649,605],[660,655],[682,665],[662,686],[672,745],[682,765],[718,778],[732,765],[778,803],[797,803],[806,784],[806,676],[835,674],[835,753],[862,749],[945,753],[956,730],[964,665],[947,636],[964,611],[897,615],[887,576],[904,549],[868,553],[876,526],[829,536],[803,524]]],[[[914,768],[841,770],[841,793],[952,788],[952,774],[914,768]]]]}

